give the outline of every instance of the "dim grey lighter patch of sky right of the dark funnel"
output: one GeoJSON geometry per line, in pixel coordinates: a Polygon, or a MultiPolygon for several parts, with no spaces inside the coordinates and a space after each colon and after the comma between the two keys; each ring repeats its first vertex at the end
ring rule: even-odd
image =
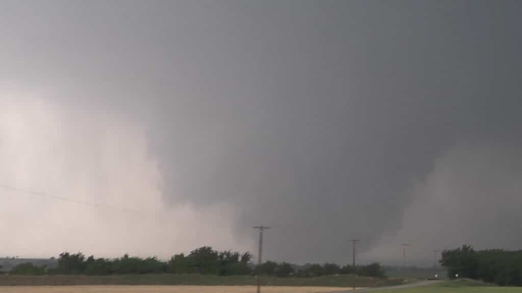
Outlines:
{"type": "Polygon", "coordinates": [[[384,235],[364,257],[402,263],[401,243],[410,244],[411,264],[431,264],[432,250],[463,244],[519,249],[522,162],[516,154],[516,146],[502,141],[456,145],[413,188],[401,228],[384,235]]]}

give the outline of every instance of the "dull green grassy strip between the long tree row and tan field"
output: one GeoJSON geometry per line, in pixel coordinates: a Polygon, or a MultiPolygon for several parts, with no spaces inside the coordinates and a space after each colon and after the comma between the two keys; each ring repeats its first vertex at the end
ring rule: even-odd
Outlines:
{"type": "MultiPolygon", "coordinates": [[[[262,277],[269,286],[312,287],[380,287],[402,284],[400,279],[377,279],[355,275],[324,276],[317,278],[262,277]]],[[[252,276],[212,275],[112,275],[112,276],[0,276],[0,286],[90,286],[90,285],[201,285],[201,286],[252,286],[252,276]]]]}

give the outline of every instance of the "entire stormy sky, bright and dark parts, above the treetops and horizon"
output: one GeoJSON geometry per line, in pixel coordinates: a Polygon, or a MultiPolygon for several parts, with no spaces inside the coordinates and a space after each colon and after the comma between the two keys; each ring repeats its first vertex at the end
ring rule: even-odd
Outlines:
{"type": "Polygon", "coordinates": [[[1,4],[0,255],[522,246],[520,2],[1,4]]]}

